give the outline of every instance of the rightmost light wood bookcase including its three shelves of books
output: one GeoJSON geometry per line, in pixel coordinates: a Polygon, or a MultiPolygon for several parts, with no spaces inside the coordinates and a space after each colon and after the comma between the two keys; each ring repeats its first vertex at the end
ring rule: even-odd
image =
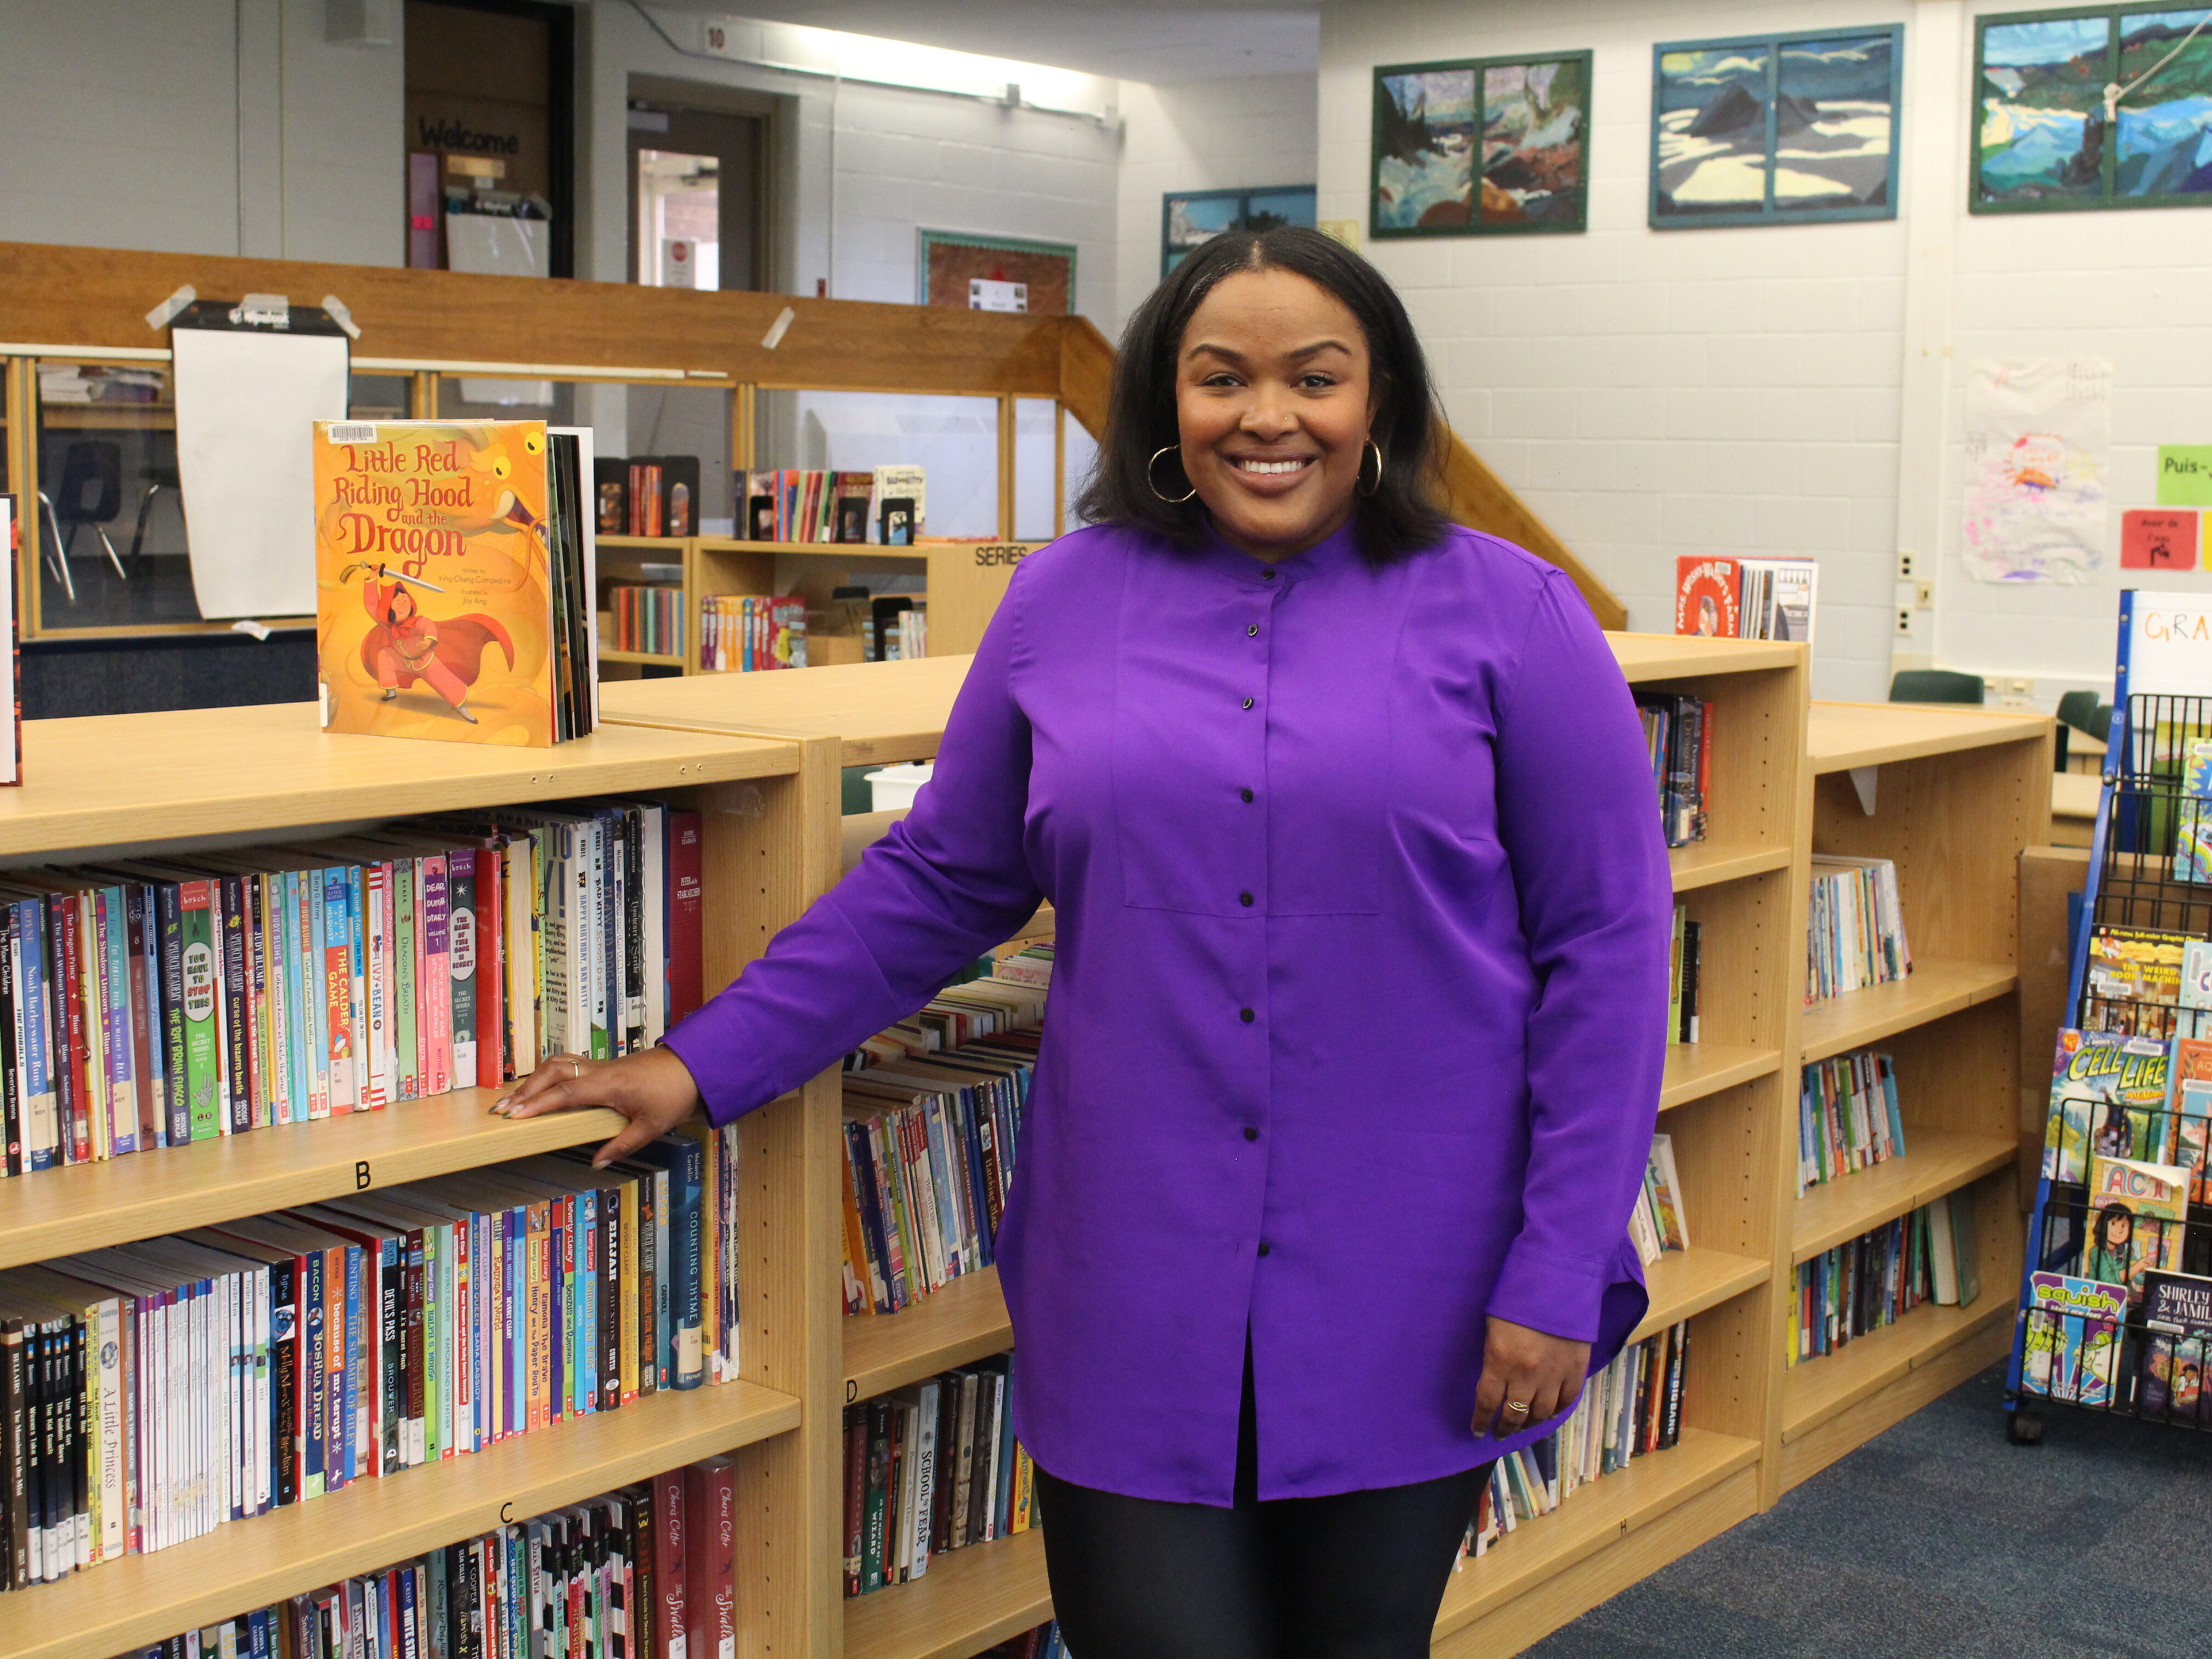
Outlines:
{"type": "Polygon", "coordinates": [[[1814,703],[1778,1489],[2004,1352],[2020,1276],[2017,865],[2051,721],[1814,703]],[[1995,1287],[1995,1290],[1993,1290],[1995,1287]]]}

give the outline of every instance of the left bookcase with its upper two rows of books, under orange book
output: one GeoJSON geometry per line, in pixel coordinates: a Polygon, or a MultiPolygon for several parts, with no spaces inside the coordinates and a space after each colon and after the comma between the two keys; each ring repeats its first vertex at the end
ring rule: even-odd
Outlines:
{"type": "Polygon", "coordinates": [[[608,1170],[577,1148],[611,1113],[489,1106],[542,1053],[653,1042],[836,878],[836,745],[292,703],[29,721],[24,754],[0,1659],[265,1617],[717,1453],[774,1515],[734,1595],[834,1652],[834,1595],[772,1571],[836,1524],[803,1316],[836,1292],[834,1082],[608,1170]]]}

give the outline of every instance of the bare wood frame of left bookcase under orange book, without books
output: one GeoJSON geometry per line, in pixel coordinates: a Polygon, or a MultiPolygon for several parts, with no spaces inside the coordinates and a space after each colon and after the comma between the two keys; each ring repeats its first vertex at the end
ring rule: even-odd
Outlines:
{"type": "MultiPolygon", "coordinates": [[[[7,865],[119,849],[184,856],[414,812],[650,792],[701,810],[706,973],[717,987],[836,878],[832,743],[635,726],[551,750],[422,743],[325,734],[312,703],[27,721],[22,737],[27,781],[0,792],[7,865]]],[[[834,1093],[823,1102],[821,1088],[748,1119],[743,1380],[363,1480],[4,1595],[0,1659],[77,1659],[166,1639],[719,1451],[737,1453],[743,1493],[748,1652],[834,1652],[834,1586],[816,1597],[814,1582],[790,1568],[794,1555],[812,1559],[803,1528],[818,1504],[814,1471],[827,1464],[810,1436],[834,1422],[836,1389],[812,1312],[836,1294],[814,1248],[823,1217],[836,1212],[834,1170],[805,1146],[807,1124],[834,1113],[834,1093]]],[[[588,1144],[619,1124],[602,1110],[511,1124],[487,1115],[493,1097],[460,1088],[0,1181],[0,1265],[588,1144]]]]}

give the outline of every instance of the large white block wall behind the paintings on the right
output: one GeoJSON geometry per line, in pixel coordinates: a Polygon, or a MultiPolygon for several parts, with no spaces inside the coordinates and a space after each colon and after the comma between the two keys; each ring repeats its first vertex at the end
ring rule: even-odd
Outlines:
{"type": "Polygon", "coordinates": [[[2157,442],[2212,436],[2212,321],[2190,301],[2212,276],[2212,212],[1971,217],[1971,18],[2004,9],[2013,0],[1323,9],[1325,219],[1367,219],[1376,64],[1595,51],[1588,234],[1367,252],[1405,292],[1453,425],[1628,602],[1632,628],[1672,628],[1677,553],[1814,555],[1816,697],[1885,697],[1893,650],[1898,666],[2026,679],[2042,706],[2108,684],[2119,511],[2150,504],[2157,442]],[[1655,42],[1898,20],[1900,219],[1648,230],[1655,42]],[[1982,586],[1958,560],[1964,365],[2046,354],[2117,361],[2106,571],[2088,588],[1982,586]],[[1900,549],[1936,555],[1936,606],[1909,637],[1896,633],[1900,549]]]}

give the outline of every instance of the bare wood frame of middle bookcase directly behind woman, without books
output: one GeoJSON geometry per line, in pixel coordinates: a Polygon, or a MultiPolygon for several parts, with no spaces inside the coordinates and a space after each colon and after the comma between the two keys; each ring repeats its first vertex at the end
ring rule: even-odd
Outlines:
{"type": "MultiPolygon", "coordinates": [[[[1436,1650],[1513,1652],[1663,1562],[1759,1511],[1778,1418],[1787,1254],[1778,1177],[1796,1159],[1803,971],[1805,650],[1761,641],[1613,635],[1639,690],[1714,703],[1710,838],[1670,854],[1703,925],[1703,1035],[1668,1053],[1661,1124],[1674,1137],[1697,1248],[1650,1274],[1637,1336],[1692,1323],[1681,1444],[1577,1491],[1522,1526],[1444,1595],[1436,1650]],[[1666,1522],[1655,1526],[1655,1522],[1666,1522]]],[[[967,659],[821,668],[743,679],[608,684],[611,721],[661,730],[836,739],[838,763],[936,754],[967,659]]],[[[883,814],[847,841],[880,834],[883,814]]],[[[1051,925],[1040,916],[1024,933],[1051,925]]],[[[823,1243],[827,1254],[836,1239],[823,1243]]],[[[834,1296],[823,1310],[834,1310],[834,1296]]],[[[843,1318],[843,1394],[863,1400],[1011,1347],[993,1272],[894,1316],[843,1318]]],[[[816,1438],[816,1444],[825,1444],[816,1438]]],[[[814,1571],[832,1586],[836,1551],[814,1571]]],[[[938,1557],[929,1575],[845,1604],[847,1659],[967,1659],[1051,1617],[1042,1537],[938,1557]]]]}

